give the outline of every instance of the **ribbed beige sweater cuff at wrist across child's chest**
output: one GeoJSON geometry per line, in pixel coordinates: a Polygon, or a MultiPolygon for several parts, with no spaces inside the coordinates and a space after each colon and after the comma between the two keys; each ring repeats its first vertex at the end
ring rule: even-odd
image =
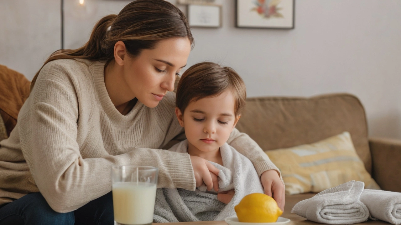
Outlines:
{"type": "Polygon", "coordinates": [[[174,186],[195,191],[196,181],[189,154],[177,153],[174,157],[170,156],[168,162],[168,174],[174,186]]]}

